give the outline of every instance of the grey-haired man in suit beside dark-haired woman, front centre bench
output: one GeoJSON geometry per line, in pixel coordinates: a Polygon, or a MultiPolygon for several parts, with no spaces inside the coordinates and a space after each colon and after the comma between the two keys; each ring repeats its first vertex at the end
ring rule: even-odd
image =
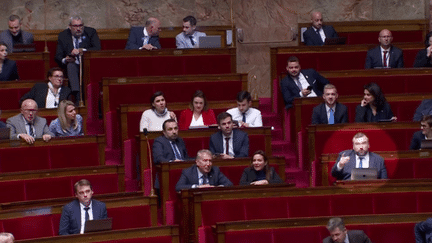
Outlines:
{"type": "Polygon", "coordinates": [[[232,182],[219,170],[212,166],[212,153],[207,149],[198,151],[196,164],[184,169],[176,185],[176,191],[189,188],[215,186],[232,186],[232,182]]]}

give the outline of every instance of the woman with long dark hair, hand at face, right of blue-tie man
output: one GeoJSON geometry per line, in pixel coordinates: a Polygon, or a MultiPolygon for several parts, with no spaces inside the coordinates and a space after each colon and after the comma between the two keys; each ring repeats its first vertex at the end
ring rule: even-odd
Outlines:
{"type": "Polygon", "coordinates": [[[389,103],[376,83],[364,86],[364,98],[356,107],[355,122],[396,121],[389,103]]]}

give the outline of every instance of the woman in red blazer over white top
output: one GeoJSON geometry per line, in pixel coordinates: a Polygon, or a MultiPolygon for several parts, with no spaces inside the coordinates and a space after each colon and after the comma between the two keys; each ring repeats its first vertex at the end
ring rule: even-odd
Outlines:
{"type": "Polygon", "coordinates": [[[217,123],[214,112],[208,109],[207,99],[201,90],[195,91],[189,107],[190,109],[183,110],[180,114],[179,128],[181,130],[217,123]]]}

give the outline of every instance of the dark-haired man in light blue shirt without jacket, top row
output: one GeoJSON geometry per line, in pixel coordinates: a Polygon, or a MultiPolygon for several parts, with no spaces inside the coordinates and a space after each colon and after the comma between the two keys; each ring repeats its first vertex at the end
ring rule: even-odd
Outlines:
{"type": "Polygon", "coordinates": [[[183,19],[183,32],[176,36],[177,49],[199,48],[199,38],[205,33],[196,31],[196,18],[187,16],[183,19]]]}

